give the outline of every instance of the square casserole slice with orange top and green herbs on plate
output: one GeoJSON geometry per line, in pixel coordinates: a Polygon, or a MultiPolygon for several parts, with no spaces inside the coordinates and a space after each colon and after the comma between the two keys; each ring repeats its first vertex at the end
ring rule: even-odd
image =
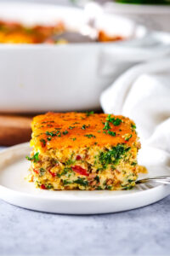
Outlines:
{"type": "Polygon", "coordinates": [[[135,124],[105,113],[46,113],[31,124],[30,181],[41,189],[131,189],[140,148],[135,124]]]}

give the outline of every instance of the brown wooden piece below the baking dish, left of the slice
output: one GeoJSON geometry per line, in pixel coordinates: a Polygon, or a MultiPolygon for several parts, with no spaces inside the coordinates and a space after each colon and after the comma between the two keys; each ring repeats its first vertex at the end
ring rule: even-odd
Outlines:
{"type": "Polygon", "coordinates": [[[31,118],[0,115],[0,146],[26,143],[31,139],[31,118]]]}

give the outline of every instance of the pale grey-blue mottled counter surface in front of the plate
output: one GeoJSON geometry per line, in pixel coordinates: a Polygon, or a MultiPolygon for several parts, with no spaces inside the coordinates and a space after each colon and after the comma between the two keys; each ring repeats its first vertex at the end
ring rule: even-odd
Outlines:
{"type": "Polygon", "coordinates": [[[170,196],[133,211],[89,216],[0,201],[0,255],[170,255],[170,196]]]}

